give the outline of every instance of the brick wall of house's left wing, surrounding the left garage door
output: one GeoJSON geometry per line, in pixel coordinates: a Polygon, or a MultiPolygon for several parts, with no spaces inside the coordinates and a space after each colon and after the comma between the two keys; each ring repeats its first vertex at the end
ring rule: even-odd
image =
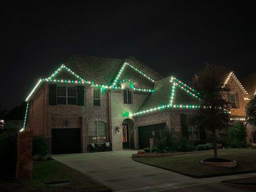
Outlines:
{"type": "Polygon", "coordinates": [[[87,151],[88,123],[96,120],[107,124],[107,141],[110,141],[109,92],[102,92],[101,106],[93,106],[93,88],[85,87],[85,106],[49,105],[49,84],[44,84],[29,101],[27,127],[33,135],[43,136],[51,153],[51,129],[81,128],[81,151],[87,151]]]}

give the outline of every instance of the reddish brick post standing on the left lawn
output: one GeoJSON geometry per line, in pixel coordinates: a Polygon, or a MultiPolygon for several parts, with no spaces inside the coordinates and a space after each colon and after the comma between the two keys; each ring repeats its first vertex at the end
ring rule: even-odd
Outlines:
{"type": "Polygon", "coordinates": [[[18,151],[16,178],[18,180],[32,179],[33,156],[32,156],[33,134],[31,130],[24,130],[18,134],[18,151]]]}

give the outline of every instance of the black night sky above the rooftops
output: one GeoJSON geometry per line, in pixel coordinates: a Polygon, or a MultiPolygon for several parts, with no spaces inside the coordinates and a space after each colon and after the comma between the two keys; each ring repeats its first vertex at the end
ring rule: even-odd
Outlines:
{"type": "Polygon", "coordinates": [[[256,71],[253,1],[93,1],[1,4],[0,104],[13,108],[72,54],[134,56],[189,82],[206,62],[256,71]]]}

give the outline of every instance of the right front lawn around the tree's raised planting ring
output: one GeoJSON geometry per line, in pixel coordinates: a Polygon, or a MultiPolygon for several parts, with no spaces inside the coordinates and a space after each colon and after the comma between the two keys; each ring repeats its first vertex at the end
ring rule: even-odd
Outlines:
{"type": "Polygon", "coordinates": [[[195,178],[256,172],[255,149],[219,149],[218,153],[219,158],[236,160],[237,166],[234,168],[221,168],[199,163],[200,160],[212,157],[213,151],[198,154],[138,157],[133,159],[147,165],[168,169],[195,178]]]}

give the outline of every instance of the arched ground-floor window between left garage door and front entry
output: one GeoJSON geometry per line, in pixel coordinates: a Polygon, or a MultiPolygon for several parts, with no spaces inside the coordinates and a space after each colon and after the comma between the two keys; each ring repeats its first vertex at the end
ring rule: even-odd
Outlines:
{"type": "Polygon", "coordinates": [[[107,124],[94,121],[88,125],[88,143],[104,144],[106,142],[107,124]]]}

